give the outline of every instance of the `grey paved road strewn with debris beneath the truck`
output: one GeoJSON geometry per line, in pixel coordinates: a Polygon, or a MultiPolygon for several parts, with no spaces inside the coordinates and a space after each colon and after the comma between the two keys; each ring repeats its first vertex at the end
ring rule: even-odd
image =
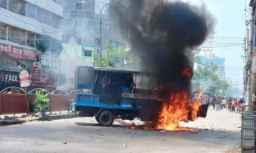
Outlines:
{"type": "Polygon", "coordinates": [[[0,126],[0,152],[235,152],[241,141],[239,117],[227,110],[209,110],[206,119],[182,123],[196,131],[165,133],[124,128],[116,122],[102,128],[90,117],[26,122],[0,126]]]}

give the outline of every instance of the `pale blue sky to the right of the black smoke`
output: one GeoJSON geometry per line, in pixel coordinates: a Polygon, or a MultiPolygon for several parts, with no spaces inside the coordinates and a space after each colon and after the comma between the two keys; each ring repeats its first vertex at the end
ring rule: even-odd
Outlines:
{"type": "Polygon", "coordinates": [[[206,40],[200,48],[212,47],[216,56],[225,58],[225,77],[232,78],[233,84],[239,84],[239,89],[243,90],[242,55],[245,20],[250,18],[250,0],[189,0],[189,3],[205,4],[216,18],[213,38],[206,40]]]}

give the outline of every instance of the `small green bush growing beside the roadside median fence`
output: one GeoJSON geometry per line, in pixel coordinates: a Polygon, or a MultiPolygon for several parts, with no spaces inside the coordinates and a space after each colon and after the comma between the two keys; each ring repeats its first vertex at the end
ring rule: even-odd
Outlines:
{"type": "Polygon", "coordinates": [[[41,91],[36,91],[36,99],[33,102],[33,110],[35,113],[44,114],[50,108],[49,94],[42,94],[41,91]]]}

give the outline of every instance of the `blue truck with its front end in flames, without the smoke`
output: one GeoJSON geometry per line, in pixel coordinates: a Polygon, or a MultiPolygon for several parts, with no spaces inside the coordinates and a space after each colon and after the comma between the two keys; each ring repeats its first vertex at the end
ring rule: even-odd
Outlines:
{"type": "Polygon", "coordinates": [[[181,91],[165,95],[160,80],[161,74],[156,73],[79,66],[76,112],[83,117],[95,116],[100,126],[111,126],[118,118],[139,118],[153,122],[149,128],[171,131],[179,128],[181,120],[206,116],[209,94],[200,91],[191,96],[181,91]]]}

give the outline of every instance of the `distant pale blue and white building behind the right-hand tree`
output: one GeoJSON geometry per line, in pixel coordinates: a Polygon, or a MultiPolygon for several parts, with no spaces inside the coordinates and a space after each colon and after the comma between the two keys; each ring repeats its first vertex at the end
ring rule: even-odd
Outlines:
{"type": "Polygon", "coordinates": [[[212,48],[204,48],[204,56],[200,57],[198,66],[205,64],[215,64],[217,66],[216,75],[225,80],[225,58],[216,57],[212,54],[212,48]]]}

